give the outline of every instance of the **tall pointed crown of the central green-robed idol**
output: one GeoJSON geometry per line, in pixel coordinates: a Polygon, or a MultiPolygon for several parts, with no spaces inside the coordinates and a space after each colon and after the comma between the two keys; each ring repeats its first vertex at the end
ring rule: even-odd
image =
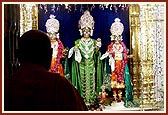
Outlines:
{"type": "Polygon", "coordinates": [[[94,19],[90,15],[90,12],[88,10],[84,12],[84,14],[81,16],[79,20],[79,28],[83,29],[85,27],[90,28],[91,30],[94,29],[94,19]]]}

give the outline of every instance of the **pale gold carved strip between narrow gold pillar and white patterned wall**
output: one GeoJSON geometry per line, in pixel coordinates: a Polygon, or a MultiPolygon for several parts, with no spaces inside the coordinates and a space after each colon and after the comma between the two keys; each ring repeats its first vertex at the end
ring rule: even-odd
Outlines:
{"type": "Polygon", "coordinates": [[[153,38],[152,38],[152,9],[150,5],[140,6],[140,37],[139,55],[141,67],[141,107],[153,106],[153,38]]]}

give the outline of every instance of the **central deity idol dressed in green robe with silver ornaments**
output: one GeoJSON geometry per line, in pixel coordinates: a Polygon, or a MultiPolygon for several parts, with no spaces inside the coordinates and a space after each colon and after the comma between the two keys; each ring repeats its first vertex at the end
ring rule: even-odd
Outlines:
{"type": "Polygon", "coordinates": [[[79,31],[82,36],[75,41],[69,50],[72,57],[72,84],[78,89],[87,105],[90,105],[101,90],[101,39],[92,39],[94,20],[86,10],[79,20],[79,31]]]}

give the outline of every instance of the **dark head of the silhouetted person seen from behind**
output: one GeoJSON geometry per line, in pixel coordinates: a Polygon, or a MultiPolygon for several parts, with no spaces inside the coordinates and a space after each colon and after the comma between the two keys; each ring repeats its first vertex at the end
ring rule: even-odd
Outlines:
{"type": "Polygon", "coordinates": [[[18,58],[22,63],[33,63],[50,68],[52,49],[50,38],[40,30],[25,32],[18,40],[18,58]]]}

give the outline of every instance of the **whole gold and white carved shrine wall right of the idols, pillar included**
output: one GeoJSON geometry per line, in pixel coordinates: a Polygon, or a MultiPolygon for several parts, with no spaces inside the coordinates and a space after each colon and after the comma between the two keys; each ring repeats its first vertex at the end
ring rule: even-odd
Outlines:
{"type": "MultiPolygon", "coordinates": [[[[130,73],[140,107],[164,108],[165,4],[130,5],[130,73]]],[[[166,45],[165,45],[166,46],[166,45]]]]}

